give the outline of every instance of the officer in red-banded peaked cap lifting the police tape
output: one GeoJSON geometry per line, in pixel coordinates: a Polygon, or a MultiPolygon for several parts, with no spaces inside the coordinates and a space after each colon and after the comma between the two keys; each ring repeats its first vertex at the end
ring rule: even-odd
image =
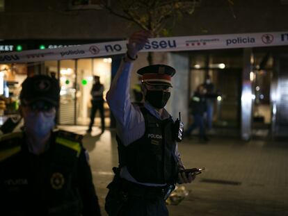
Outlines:
{"type": "MultiPolygon", "coordinates": [[[[177,149],[179,124],[165,110],[175,69],[150,65],[138,70],[145,103],[129,97],[131,69],[150,33],[131,35],[106,100],[116,119],[119,167],[108,185],[105,209],[110,215],[168,215],[165,200],[175,183],[191,183],[195,174],[184,174],[177,149]]],[[[179,122],[178,122],[179,123],[179,122]]]]}

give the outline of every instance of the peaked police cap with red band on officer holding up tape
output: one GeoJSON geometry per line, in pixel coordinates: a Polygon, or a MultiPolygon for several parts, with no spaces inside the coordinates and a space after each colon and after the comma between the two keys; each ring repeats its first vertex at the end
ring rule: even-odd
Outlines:
{"type": "Polygon", "coordinates": [[[149,65],[138,69],[137,74],[142,75],[142,82],[148,85],[168,85],[172,87],[171,77],[175,69],[168,65],[149,65]]]}

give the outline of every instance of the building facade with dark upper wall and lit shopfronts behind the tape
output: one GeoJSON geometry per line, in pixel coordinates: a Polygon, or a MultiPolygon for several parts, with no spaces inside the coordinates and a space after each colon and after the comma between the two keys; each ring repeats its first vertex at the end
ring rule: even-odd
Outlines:
{"type": "MultiPolygon", "coordinates": [[[[174,25],[172,20],[171,25],[168,23],[170,36],[283,32],[283,40],[288,40],[288,23],[285,22],[287,1],[233,2],[230,5],[225,0],[195,1],[192,15],[176,20],[174,25]]],[[[110,3],[115,8],[119,6],[118,1],[110,3]]],[[[77,5],[68,0],[42,1],[41,4],[35,0],[0,0],[0,8],[1,52],[124,40],[138,29],[101,9],[97,1],[83,1],[77,5]]],[[[241,44],[246,40],[235,40],[235,43],[241,44]]],[[[191,122],[189,98],[209,74],[220,96],[214,100],[214,126],[236,128],[243,140],[249,140],[253,131],[259,128],[268,128],[272,136],[285,137],[288,131],[287,51],[287,47],[243,47],[157,52],[154,63],[172,65],[177,69],[173,78],[173,95],[167,108],[174,116],[181,111],[185,124],[191,122]],[[251,96],[248,100],[243,97],[247,93],[251,96]]],[[[132,85],[138,81],[136,70],[147,65],[146,56],[147,53],[141,53],[134,65],[132,85]]],[[[8,82],[5,85],[9,84],[11,88],[19,85],[27,73],[56,73],[62,85],[63,112],[60,110],[59,122],[85,125],[91,77],[96,74],[102,76],[108,90],[119,61],[120,56],[108,56],[2,65],[1,68],[10,69],[10,75],[14,74],[6,77],[8,82]],[[65,112],[69,109],[70,112],[65,112]]]]}

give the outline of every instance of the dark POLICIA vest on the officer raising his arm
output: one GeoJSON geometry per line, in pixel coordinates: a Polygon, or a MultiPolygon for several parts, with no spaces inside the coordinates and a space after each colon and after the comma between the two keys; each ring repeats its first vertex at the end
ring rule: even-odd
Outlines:
{"type": "Polygon", "coordinates": [[[119,138],[120,167],[127,166],[131,176],[141,183],[175,183],[178,163],[175,156],[172,117],[157,119],[144,107],[144,135],[125,147],[119,138]]]}

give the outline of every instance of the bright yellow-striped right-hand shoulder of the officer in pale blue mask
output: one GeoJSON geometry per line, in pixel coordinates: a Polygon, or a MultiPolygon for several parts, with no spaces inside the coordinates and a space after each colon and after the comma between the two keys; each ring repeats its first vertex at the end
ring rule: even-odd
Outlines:
{"type": "Polygon", "coordinates": [[[83,135],[72,133],[69,131],[57,131],[56,143],[63,145],[77,151],[77,157],[79,157],[81,152],[81,140],[83,135]]]}

